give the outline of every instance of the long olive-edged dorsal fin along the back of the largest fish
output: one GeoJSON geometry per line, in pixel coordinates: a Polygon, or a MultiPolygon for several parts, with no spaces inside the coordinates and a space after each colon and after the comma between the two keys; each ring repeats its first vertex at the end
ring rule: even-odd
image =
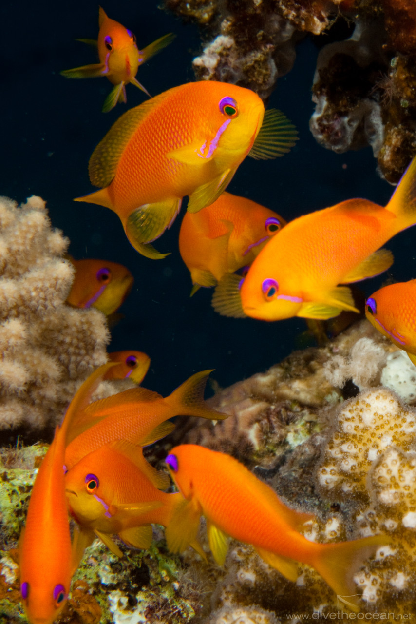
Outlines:
{"type": "MultiPolygon", "coordinates": [[[[176,89],[177,87],[174,87],[176,89]]],[[[88,165],[90,182],[95,187],[107,187],[114,178],[117,165],[123,152],[136,132],[140,123],[157,107],[160,102],[170,97],[172,89],[165,91],[133,109],[127,110],[102,139],[90,158],[88,165]]]]}

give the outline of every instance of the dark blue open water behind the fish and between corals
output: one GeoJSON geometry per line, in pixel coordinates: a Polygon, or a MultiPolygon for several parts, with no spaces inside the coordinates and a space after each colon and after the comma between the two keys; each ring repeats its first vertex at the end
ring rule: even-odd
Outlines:
{"type": "MultiPolygon", "coordinates": [[[[198,29],[161,11],[156,0],[107,0],[103,7],[137,35],[145,47],[167,32],[177,39],[138,72],[152,95],[192,81],[191,59],[200,53],[198,29]]],[[[115,213],[72,198],[94,190],[87,165],[95,145],[126,110],[117,105],[100,112],[112,85],[100,79],[68,80],[59,75],[97,62],[95,53],[77,37],[96,38],[98,5],[72,2],[0,4],[2,45],[0,97],[0,193],[22,202],[29,195],[47,201],[52,224],[69,236],[75,258],[103,258],[127,266],[135,285],[120,312],[125,318],[112,330],[109,351],[139,349],[152,364],[145,386],[167,394],[194,371],[215,368],[213,376],[227,386],[263,371],[293,351],[304,331],[303,319],[266,323],[228,319],[210,306],[211,291],[190,298],[191,281],[178,253],[181,215],[158,241],[165,260],[152,261],[133,250],[115,213]]],[[[287,220],[351,197],[385,204],[393,187],[380,179],[370,148],[337,155],[316,144],[308,122],[313,111],[311,84],[317,50],[306,39],[297,46],[294,69],[279,79],[270,106],[296,124],[300,140],[284,158],[266,162],[250,158],[239,167],[228,190],[273,208],[287,220]]],[[[144,95],[127,86],[127,105],[144,95]]],[[[395,281],[415,277],[415,231],[388,243],[395,281]]],[[[296,250],[294,250],[296,253],[296,250]]],[[[361,283],[367,295],[382,279],[361,283]]]]}

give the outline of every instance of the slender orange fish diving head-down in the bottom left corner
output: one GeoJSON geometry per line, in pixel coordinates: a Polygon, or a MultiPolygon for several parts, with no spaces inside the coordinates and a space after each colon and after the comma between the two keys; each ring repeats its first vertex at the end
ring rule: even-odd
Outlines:
{"type": "Polygon", "coordinates": [[[80,386],[47,450],[33,485],[26,527],[19,542],[21,595],[33,624],[51,624],[67,601],[77,553],[71,547],[65,498],[64,453],[69,427],[90,401],[104,374],[104,364],[80,386]]]}

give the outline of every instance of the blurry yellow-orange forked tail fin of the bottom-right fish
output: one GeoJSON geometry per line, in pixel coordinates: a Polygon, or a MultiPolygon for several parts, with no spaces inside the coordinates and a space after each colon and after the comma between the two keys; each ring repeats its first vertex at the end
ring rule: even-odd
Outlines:
{"type": "Polygon", "coordinates": [[[316,548],[309,564],[315,568],[339,600],[352,611],[358,611],[358,598],[354,573],[364,561],[374,555],[377,548],[389,544],[386,535],[373,535],[352,542],[340,544],[321,544],[316,548]]]}

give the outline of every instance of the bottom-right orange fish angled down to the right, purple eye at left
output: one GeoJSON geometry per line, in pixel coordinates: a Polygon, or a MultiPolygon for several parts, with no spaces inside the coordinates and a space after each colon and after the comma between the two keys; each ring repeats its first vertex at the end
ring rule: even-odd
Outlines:
{"type": "Polygon", "coordinates": [[[356,558],[366,558],[387,544],[383,535],[341,544],[316,544],[299,533],[312,518],[286,507],[275,492],[236,459],[195,444],[172,449],[166,462],[184,497],[165,532],[172,552],[181,552],[195,539],[200,517],[206,518],[208,542],[215,560],[223,565],[228,536],[252,544],[268,565],[296,581],[296,561],[314,567],[353,610],[356,586],[352,572],[356,558]]]}

